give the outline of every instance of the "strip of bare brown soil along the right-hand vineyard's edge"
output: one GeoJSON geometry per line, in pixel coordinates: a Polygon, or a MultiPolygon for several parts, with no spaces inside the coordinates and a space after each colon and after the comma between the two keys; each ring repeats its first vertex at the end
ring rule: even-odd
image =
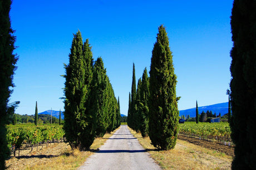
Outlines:
{"type": "Polygon", "coordinates": [[[223,143],[219,142],[211,142],[211,141],[205,141],[205,140],[200,140],[199,138],[191,138],[191,137],[186,137],[184,135],[178,135],[179,140],[184,140],[188,141],[190,143],[193,143],[195,145],[199,145],[204,148],[208,148],[210,150],[215,150],[218,152],[222,152],[227,154],[228,156],[234,157],[234,147],[233,146],[225,146],[223,143]]]}

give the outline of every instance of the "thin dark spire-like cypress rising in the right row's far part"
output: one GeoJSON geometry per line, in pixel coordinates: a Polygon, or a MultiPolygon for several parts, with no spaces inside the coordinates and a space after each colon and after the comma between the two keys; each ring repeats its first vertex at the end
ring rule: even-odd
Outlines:
{"type": "Polygon", "coordinates": [[[136,105],[136,78],[135,78],[135,65],[132,66],[132,84],[131,84],[131,109],[130,109],[130,125],[134,129],[135,121],[135,105],[136,105]]]}

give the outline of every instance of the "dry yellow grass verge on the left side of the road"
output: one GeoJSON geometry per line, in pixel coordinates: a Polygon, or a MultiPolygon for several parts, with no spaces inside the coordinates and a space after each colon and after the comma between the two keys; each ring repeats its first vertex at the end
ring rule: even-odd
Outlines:
{"type": "MultiPolygon", "coordinates": [[[[116,131],[116,130],[115,130],[116,131]]],[[[114,132],[115,132],[114,131],[114,132]]],[[[114,132],[106,133],[102,138],[95,138],[91,151],[71,150],[67,143],[40,146],[38,152],[30,148],[21,151],[20,157],[11,157],[6,161],[7,169],[77,169],[95,150],[104,145],[114,132]]]]}

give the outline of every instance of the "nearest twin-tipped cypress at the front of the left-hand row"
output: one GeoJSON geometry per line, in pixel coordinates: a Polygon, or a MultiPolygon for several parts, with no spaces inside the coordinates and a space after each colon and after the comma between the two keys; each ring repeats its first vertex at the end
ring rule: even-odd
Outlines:
{"type": "Polygon", "coordinates": [[[88,94],[92,80],[92,53],[88,39],[83,44],[80,31],[74,34],[65,65],[65,125],[66,139],[71,148],[90,148],[96,135],[95,113],[88,112],[88,94]]]}

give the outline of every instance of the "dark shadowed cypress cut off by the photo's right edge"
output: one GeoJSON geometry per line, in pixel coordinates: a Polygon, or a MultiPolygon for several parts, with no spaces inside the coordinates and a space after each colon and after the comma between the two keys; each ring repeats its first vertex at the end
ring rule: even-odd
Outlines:
{"type": "Polygon", "coordinates": [[[233,48],[230,81],[232,169],[256,169],[256,1],[234,0],[231,28],[233,48]]]}

